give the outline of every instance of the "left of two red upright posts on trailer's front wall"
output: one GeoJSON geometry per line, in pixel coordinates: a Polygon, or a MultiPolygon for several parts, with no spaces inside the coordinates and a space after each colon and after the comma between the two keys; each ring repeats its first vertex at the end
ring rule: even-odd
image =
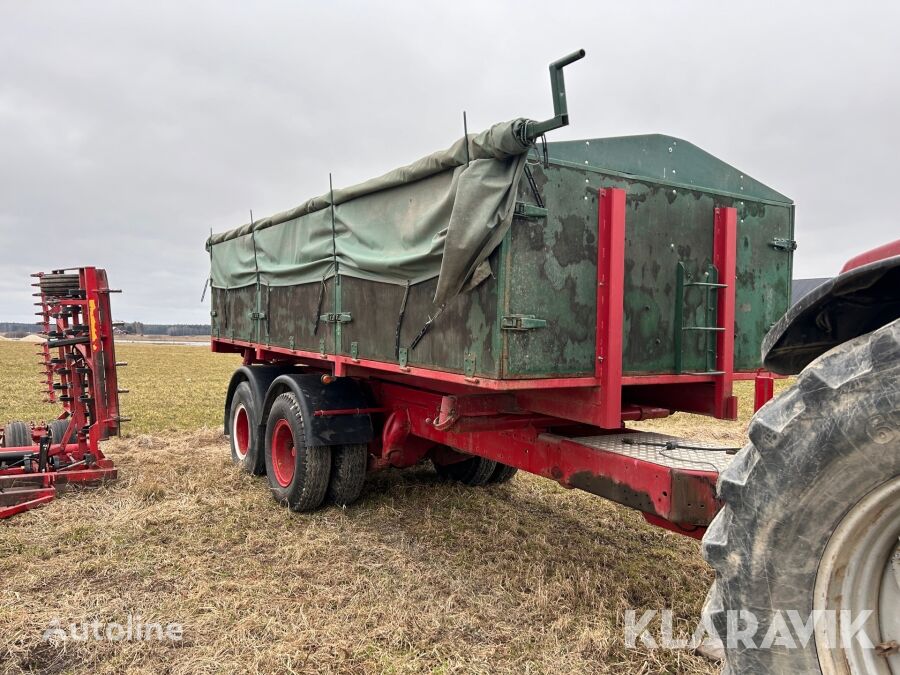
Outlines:
{"type": "Polygon", "coordinates": [[[625,303],[625,191],[599,191],[597,233],[597,354],[600,381],[598,423],[622,426],[622,325],[625,303]]]}

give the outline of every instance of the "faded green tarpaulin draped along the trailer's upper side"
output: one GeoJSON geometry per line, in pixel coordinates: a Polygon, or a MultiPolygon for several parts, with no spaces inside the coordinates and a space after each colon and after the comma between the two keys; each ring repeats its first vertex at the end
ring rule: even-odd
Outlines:
{"type": "Polygon", "coordinates": [[[526,120],[495,124],[378,178],[207,242],[212,285],[318,282],[342,275],[393,284],[438,277],[435,304],[485,276],[512,221],[529,143],[526,120]],[[466,153],[468,142],[468,158],[466,153]],[[467,162],[468,159],[468,162],[467,162]],[[479,269],[480,268],[480,269],[479,269]]]}

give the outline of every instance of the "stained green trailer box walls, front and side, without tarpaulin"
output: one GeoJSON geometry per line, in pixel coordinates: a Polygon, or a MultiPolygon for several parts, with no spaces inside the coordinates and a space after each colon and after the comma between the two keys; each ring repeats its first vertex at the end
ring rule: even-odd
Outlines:
{"type": "MultiPolygon", "coordinates": [[[[716,331],[700,329],[718,325],[718,291],[692,284],[715,281],[717,207],[737,212],[734,370],[759,369],[762,338],[790,301],[791,200],[669,136],[549,143],[546,153],[533,148],[527,155],[511,225],[487,257],[489,274],[443,308],[433,302],[437,276],[407,285],[347,273],[339,284],[332,275],[281,285],[263,269],[259,283],[251,274],[246,285],[225,288],[214,268],[214,337],[487,379],[592,376],[599,191],[620,188],[623,373],[716,370],[716,331]]],[[[330,213],[316,213],[327,239],[330,213]]],[[[301,227],[299,219],[272,229],[292,227],[301,227]]],[[[382,222],[373,217],[372,227],[382,222]]],[[[338,225],[336,237],[344,234],[338,225]]],[[[252,247],[252,234],[243,236],[252,247]]],[[[275,250],[283,257],[274,265],[295,255],[275,250]]],[[[259,264],[251,250],[248,269],[259,264]]]]}

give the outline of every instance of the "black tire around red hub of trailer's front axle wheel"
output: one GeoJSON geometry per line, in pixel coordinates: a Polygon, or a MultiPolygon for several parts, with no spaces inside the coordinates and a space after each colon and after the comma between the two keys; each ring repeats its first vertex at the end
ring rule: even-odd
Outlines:
{"type": "Polygon", "coordinates": [[[266,476],[275,501],[293,511],[312,511],[321,506],[331,474],[331,448],[307,447],[305,438],[303,413],[296,396],[290,392],[281,394],[272,404],[266,422],[266,476]],[[279,420],[290,424],[295,449],[294,473],[286,487],[279,484],[272,461],[272,437],[279,420]]]}

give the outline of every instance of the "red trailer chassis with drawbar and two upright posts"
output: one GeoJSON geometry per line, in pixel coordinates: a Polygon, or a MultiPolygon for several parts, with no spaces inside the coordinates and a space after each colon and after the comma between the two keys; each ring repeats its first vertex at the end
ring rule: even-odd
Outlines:
{"type": "Polygon", "coordinates": [[[477,455],[551,478],[642,511],[653,524],[701,537],[718,511],[716,481],[736,449],[713,448],[625,423],[674,411],[737,418],[733,382],[755,379],[756,408],[772,397],[774,376],[735,372],[737,214],[716,208],[718,271],[716,369],[701,374],[623,375],[625,192],[599,191],[597,334],[592,377],[499,380],[459,373],[213,338],[214,352],[244,365],[302,365],[364,380],[370,408],[316,410],[316,416],[369,415],[376,429],[370,468],[405,467],[477,455]],[[727,452],[726,452],[727,450],[727,452]]]}

